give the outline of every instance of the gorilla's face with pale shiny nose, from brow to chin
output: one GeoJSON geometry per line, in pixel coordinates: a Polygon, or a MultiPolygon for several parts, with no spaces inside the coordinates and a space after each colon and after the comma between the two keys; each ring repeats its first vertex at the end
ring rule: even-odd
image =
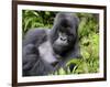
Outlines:
{"type": "Polygon", "coordinates": [[[57,39],[53,43],[53,50],[57,54],[68,51],[74,45],[74,34],[58,32],[57,39]]]}

